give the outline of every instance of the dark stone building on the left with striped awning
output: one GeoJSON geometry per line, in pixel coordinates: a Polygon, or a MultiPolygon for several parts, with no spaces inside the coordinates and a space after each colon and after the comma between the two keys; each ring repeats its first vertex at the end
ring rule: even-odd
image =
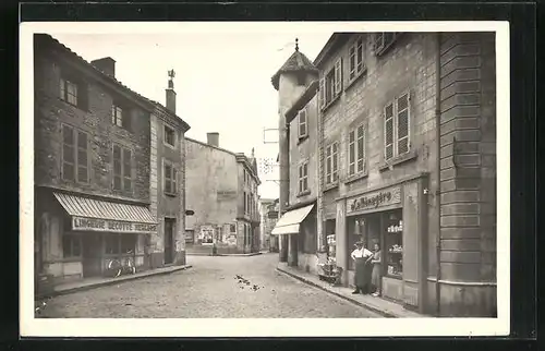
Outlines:
{"type": "Polygon", "coordinates": [[[145,269],[155,105],[49,35],[34,37],[35,247],[55,282],[104,275],[112,258],[145,269]]]}

